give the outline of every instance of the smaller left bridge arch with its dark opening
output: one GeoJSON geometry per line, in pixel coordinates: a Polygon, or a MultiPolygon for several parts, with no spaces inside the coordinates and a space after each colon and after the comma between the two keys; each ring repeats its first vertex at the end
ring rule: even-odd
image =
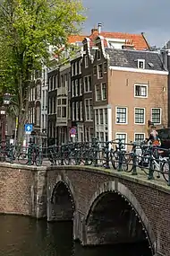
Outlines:
{"type": "Polygon", "coordinates": [[[73,195],[74,192],[71,184],[68,185],[67,182],[63,180],[59,180],[55,183],[50,199],[51,220],[73,220],[76,209],[73,195]]]}

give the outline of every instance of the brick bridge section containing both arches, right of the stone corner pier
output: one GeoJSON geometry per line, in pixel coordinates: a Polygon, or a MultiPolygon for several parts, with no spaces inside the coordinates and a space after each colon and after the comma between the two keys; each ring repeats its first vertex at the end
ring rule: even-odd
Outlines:
{"type": "Polygon", "coordinates": [[[85,166],[47,171],[47,220],[73,220],[83,245],[147,241],[170,255],[170,190],[156,181],[85,166]]]}

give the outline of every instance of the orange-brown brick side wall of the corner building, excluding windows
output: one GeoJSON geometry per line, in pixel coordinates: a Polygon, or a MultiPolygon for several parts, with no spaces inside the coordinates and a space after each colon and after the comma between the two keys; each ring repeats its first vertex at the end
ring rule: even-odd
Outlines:
{"type": "Polygon", "coordinates": [[[167,75],[147,74],[130,71],[110,70],[108,82],[108,104],[112,106],[112,137],[115,133],[126,133],[127,141],[134,141],[135,133],[149,135],[151,109],[161,108],[161,124],[157,128],[167,127],[167,75]],[[134,85],[147,85],[147,97],[135,97],[134,85]],[[126,124],[116,124],[116,107],[127,108],[126,124]],[[135,124],[134,108],[144,108],[144,124],[135,124]]]}

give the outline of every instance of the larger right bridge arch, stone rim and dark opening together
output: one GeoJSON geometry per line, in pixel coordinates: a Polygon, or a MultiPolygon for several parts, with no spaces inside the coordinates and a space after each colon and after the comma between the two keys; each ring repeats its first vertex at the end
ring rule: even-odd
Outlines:
{"type": "Polygon", "coordinates": [[[149,219],[132,191],[122,183],[103,183],[88,208],[84,218],[84,244],[133,243],[137,242],[136,237],[139,241],[148,240],[150,252],[156,253],[156,238],[149,219]]]}

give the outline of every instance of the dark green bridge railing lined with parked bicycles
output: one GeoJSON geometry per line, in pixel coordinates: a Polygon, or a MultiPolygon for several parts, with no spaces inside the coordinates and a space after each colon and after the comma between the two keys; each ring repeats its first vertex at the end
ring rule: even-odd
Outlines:
{"type": "MultiPolygon", "coordinates": [[[[117,172],[143,172],[149,180],[163,178],[170,185],[170,149],[123,139],[99,142],[68,142],[42,147],[0,145],[0,160],[26,165],[92,165],[117,172]]],[[[160,179],[162,180],[162,179],[160,179]]]]}

